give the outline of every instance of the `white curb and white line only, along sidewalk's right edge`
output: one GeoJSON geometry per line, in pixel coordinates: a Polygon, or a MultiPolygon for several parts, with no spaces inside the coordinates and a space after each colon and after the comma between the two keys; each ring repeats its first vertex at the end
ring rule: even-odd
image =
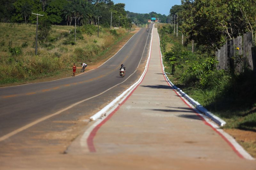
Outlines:
{"type": "MultiPolygon", "coordinates": [[[[158,32],[157,32],[158,34],[158,32]]],[[[160,37],[159,37],[159,34],[158,34],[158,41],[159,41],[159,48],[160,48],[160,37]]],[[[161,49],[161,48],[160,48],[161,49]]],[[[162,52],[160,50],[160,54],[161,54],[161,62],[162,62],[162,68],[163,68],[163,71],[164,71],[164,63],[163,63],[163,56],[162,56],[162,52]]],[[[202,105],[200,105],[197,101],[195,101],[194,99],[192,99],[191,97],[189,97],[186,93],[182,92],[182,90],[180,90],[179,88],[177,88],[170,80],[169,78],[167,77],[167,75],[165,74],[165,71],[164,71],[164,76],[167,78],[168,80],[168,83],[176,90],[178,90],[178,94],[180,95],[180,97],[184,97],[185,98],[185,102],[191,106],[200,116],[202,116],[204,118],[204,120],[211,124],[211,126],[213,128],[215,128],[218,132],[220,132],[237,150],[237,152],[239,152],[245,159],[248,159],[248,160],[255,160],[248,152],[246,152],[244,150],[244,148],[238,144],[236,142],[236,140],[230,136],[228,133],[226,133],[223,129],[220,129],[220,127],[211,122],[207,117],[210,117],[212,120],[215,120],[214,122],[218,122],[218,124],[220,126],[224,126],[226,124],[225,121],[223,121],[222,119],[220,119],[219,117],[217,117],[216,115],[213,115],[211,112],[209,112],[206,108],[204,108],[202,105]],[[187,100],[186,100],[187,99],[187,100]],[[203,112],[205,115],[203,115],[201,112],[203,112]],[[206,117],[207,116],[207,117],[206,117]]]]}

